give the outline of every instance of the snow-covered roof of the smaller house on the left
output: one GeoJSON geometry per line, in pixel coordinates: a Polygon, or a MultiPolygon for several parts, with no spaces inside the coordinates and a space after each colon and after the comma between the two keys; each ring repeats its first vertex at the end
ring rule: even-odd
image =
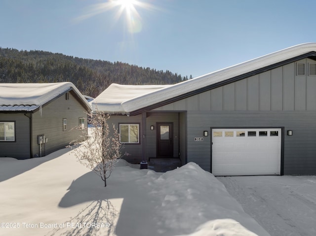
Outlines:
{"type": "Polygon", "coordinates": [[[0,111],[34,111],[70,90],[91,109],[91,105],[71,82],[0,83],[0,111]]]}

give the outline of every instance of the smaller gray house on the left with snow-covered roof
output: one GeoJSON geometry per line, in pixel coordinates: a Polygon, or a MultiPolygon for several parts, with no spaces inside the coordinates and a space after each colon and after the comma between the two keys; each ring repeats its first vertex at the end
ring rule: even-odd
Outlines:
{"type": "Polygon", "coordinates": [[[42,157],[86,127],[91,105],[70,82],[0,84],[0,157],[42,157]]]}

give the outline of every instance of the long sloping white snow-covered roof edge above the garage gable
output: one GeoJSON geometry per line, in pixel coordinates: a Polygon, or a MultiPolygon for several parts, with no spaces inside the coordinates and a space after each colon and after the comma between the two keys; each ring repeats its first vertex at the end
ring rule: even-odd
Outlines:
{"type": "Polygon", "coordinates": [[[143,107],[166,101],[174,97],[198,90],[200,88],[225,81],[235,76],[245,74],[263,67],[268,67],[276,63],[300,56],[302,54],[316,51],[316,43],[304,43],[292,46],[280,51],[252,59],[235,66],[217,70],[191,80],[174,84],[164,89],[130,99],[121,103],[125,112],[132,112],[143,107]]]}

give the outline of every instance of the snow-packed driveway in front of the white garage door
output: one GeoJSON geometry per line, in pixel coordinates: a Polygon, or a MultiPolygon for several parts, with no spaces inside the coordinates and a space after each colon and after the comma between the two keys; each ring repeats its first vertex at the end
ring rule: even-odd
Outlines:
{"type": "Polygon", "coordinates": [[[316,176],[217,179],[271,236],[316,236],[316,176]]]}

